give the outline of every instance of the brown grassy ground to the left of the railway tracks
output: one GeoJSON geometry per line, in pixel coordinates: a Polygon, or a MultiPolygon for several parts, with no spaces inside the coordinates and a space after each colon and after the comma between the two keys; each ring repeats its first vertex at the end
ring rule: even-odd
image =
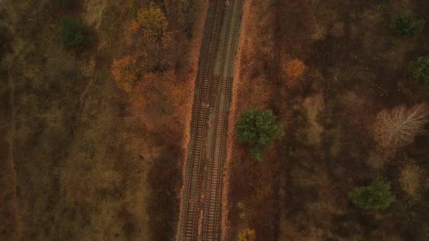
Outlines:
{"type": "Polygon", "coordinates": [[[133,51],[123,32],[149,1],[1,1],[0,240],[174,237],[206,9],[156,2],[175,49],[141,104],[111,64],[133,51]],[[62,16],[95,42],[64,47],[62,16]]]}

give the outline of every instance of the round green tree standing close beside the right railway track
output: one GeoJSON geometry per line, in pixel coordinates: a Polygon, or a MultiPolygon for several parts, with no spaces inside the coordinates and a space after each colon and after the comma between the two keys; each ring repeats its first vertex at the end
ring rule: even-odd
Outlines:
{"type": "Polygon", "coordinates": [[[236,123],[234,134],[249,145],[250,156],[262,160],[262,151],[272,140],[284,135],[283,126],[276,122],[277,116],[270,110],[246,109],[236,123]]]}

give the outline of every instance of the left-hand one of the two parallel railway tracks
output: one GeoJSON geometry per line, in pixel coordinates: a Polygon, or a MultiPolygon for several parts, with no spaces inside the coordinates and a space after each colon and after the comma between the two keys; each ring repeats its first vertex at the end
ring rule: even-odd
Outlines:
{"type": "Polygon", "coordinates": [[[187,173],[187,183],[185,183],[186,208],[184,210],[182,230],[179,230],[179,240],[195,240],[198,235],[198,186],[200,185],[200,166],[204,159],[204,136],[205,125],[207,121],[207,107],[209,98],[210,77],[212,74],[212,65],[214,51],[217,45],[218,32],[223,16],[223,0],[215,0],[212,9],[212,18],[210,20],[207,43],[205,45],[202,70],[198,80],[198,92],[195,97],[193,130],[191,136],[191,156],[188,159],[189,170],[187,173]]]}

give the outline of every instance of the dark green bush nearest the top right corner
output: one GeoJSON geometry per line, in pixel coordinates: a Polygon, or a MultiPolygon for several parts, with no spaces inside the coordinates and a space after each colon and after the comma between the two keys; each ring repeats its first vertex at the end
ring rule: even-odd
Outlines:
{"type": "Polygon", "coordinates": [[[401,14],[397,16],[392,20],[390,25],[397,34],[408,38],[416,37],[421,30],[423,30],[424,26],[424,20],[413,18],[413,16],[409,14],[401,14]]]}

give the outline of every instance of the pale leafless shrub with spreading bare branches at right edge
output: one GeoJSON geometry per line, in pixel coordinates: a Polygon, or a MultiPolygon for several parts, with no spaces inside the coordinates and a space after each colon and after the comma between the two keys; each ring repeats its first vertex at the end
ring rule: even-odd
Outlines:
{"type": "Polygon", "coordinates": [[[378,113],[375,140],[383,147],[403,147],[425,131],[429,123],[429,106],[417,104],[411,108],[397,106],[392,111],[378,113]]]}

